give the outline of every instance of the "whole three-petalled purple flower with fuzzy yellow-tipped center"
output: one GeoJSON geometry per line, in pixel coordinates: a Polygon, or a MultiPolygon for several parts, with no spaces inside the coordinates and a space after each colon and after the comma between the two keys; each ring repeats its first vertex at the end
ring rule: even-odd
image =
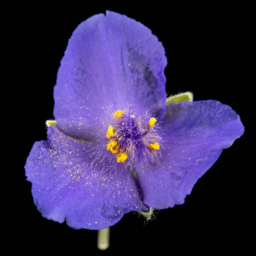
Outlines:
{"type": "Polygon", "coordinates": [[[76,28],[54,88],[57,126],[25,166],[45,218],[99,230],[127,212],[183,204],[243,134],[239,116],[218,101],[166,106],[166,64],[157,37],[124,15],[76,28]]]}

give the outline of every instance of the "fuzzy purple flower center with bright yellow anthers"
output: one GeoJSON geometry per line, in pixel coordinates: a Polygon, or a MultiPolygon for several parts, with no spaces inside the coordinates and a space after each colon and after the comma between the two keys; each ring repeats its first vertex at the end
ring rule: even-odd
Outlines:
{"type": "Polygon", "coordinates": [[[104,170],[117,163],[124,164],[124,168],[159,163],[161,137],[158,130],[157,119],[134,105],[117,110],[109,116],[109,125],[100,136],[96,159],[104,170]]]}

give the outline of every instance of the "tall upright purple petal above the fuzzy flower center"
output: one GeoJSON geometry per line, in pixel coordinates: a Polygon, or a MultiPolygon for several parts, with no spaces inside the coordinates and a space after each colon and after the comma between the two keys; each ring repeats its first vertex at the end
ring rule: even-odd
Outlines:
{"type": "Polygon", "coordinates": [[[137,104],[163,119],[163,45],[141,23],[114,12],[94,15],[73,32],[54,88],[54,116],[65,134],[92,140],[108,109],[137,104]]]}

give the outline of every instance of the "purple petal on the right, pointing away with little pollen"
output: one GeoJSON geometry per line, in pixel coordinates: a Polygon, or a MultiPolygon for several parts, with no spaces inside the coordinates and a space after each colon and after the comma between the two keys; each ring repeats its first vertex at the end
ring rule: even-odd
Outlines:
{"type": "Polygon", "coordinates": [[[143,203],[156,209],[183,204],[196,181],[244,127],[229,106],[217,101],[182,102],[166,109],[161,165],[136,173],[143,203]]]}

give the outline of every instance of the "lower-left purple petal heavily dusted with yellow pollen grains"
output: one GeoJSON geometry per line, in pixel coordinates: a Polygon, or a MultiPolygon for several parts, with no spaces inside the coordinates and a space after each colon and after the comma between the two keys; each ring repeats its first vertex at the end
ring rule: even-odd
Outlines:
{"type": "Polygon", "coordinates": [[[75,229],[99,230],[127,212],[148,209],[130,172],[102,173],[90,166],[92,148],[93,143],[67,137],[54,125],[48,128],[47,141],[34,144],[26,176],[45,218],[60,223],[66,219],[75,229]]]}

